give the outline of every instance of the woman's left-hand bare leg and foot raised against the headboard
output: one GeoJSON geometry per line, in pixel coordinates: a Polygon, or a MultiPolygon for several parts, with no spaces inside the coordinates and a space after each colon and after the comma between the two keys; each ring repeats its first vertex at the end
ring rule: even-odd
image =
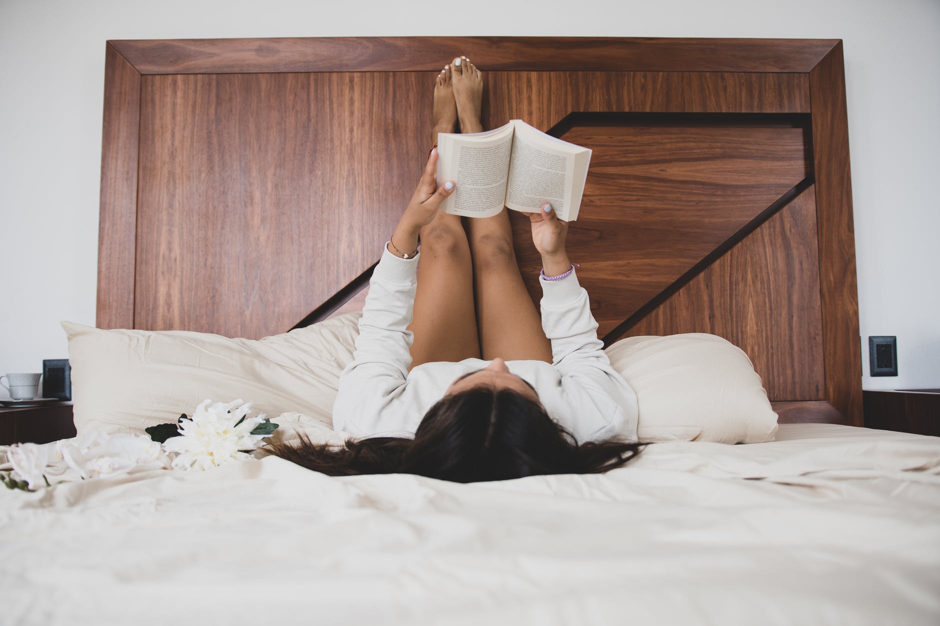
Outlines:
{"type": "MultiPolygon", "coordinates": [[[[431,143],[437,133],[453,133],[457,125],[451,77],[448,66],[435,80],[431,143]]],[[[479,358],[473,266],[461,218],[438,211],[431,224],[421,228],[420,240],[415,314],[408,327],[415,335],[411,367],[479,358]]]]}

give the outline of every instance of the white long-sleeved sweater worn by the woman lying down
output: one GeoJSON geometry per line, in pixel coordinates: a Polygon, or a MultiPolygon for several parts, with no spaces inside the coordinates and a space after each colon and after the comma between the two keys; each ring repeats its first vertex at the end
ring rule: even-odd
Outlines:
{"type": "MultiPolygon", "coordinates": [[[[421,418],[455,378],[490,363],[476,358],[425,363],[409,373],[414,336],[407,327],[415,306],[418,258],[396,257],[386,247],[372,274],[353,360],[339,378],[336,430],[359,437],[414,438],[421,418]]],[[[552,342],[554,363],[508,361],[509,371],[535,387],[548,415],[579,444],[615,436],[635,441],[636,395],[603,352],[587,291],[573,272],[540,283],[541,325],[552,342]]]]}

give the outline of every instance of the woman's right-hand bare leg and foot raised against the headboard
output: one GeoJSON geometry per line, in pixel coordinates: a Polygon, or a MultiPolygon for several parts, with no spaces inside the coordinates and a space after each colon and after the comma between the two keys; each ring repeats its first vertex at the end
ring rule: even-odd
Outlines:
{"type": "MultiPolygon", "coordinates": [[[[479,133],[483,80],[468,60],[457,59],[453,71],[454,99],[462,133],[479,133]]],[[[489,361],[552,362],[552,345],[541,330],[541,318],[525,290],[512,249],[509,213],[493,217],[469,217],[466,234],[473,258],[474,295],[480,354],[489,361]]]]}

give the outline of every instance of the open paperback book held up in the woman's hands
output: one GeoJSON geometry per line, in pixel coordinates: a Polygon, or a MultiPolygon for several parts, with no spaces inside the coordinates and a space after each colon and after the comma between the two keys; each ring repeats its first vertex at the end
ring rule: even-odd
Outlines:
{"type": "Polygon", "coordinates": [[[457,189],[441,209],[490,217],[503,210],[539,212],[550,202],[558,219],[577,219],[590,149],[575,146],[513,119],[486,133],[439,133],[437,180],[457,189]]]}

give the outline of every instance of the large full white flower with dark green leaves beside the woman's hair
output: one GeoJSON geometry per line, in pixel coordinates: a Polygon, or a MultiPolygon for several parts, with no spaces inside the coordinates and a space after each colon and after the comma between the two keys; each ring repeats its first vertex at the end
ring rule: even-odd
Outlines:
{"type": "Polygon", "coordinates": [[[180,419],[179,437],[164,442],[166,452],[176,452],[174,469],[209,469],[231,461],[252,457],[242,450],[253,450],[267,435],[253,435],[252,430],[264,421],[262,413],[248,417],[251,403],[237,399],[227,404],[207,399],[191,419],[180,419]],[[239,420],[243,421],[239,424],[239,420]]]}

